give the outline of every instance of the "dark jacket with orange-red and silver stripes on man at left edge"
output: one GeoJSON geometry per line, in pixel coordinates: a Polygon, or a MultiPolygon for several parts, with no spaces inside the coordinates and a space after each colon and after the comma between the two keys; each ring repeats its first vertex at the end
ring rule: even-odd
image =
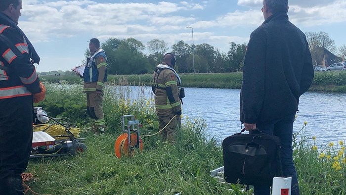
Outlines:
{"type": "Polygon", "coordinates": [[[0,24],[0,99],[41,92],[28,44],[15,28],[0,24]]]}

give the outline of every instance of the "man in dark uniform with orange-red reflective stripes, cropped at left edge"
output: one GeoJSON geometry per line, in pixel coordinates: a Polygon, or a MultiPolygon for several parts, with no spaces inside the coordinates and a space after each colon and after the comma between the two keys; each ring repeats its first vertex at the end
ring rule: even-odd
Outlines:
{"type": "Polygon", "coordinates": [[[17,26],[22,0],[0,1],[0,195],[23,195],[21,174],[31,153],[33,101],[43,100],[40,62],[17,26]]]}

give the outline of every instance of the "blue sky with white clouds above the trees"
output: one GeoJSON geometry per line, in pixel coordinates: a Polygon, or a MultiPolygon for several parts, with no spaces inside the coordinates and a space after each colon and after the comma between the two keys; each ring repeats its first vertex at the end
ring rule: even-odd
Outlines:
{"type": "MultiPolygon", "coordinates": [[[[82,65],[91,38],[134,38],[144,45],[182,40],[227,52],[247,43],[263,21],[262,0],[23,0],[18,26],[41,57],[38,72],[82,65]]],[[[290,21],[303,32],[326,32],[346,44],[346,0],[289,0],[290,21]]],[[[148,54],[147,50],[143,51],[148,54]]]]}

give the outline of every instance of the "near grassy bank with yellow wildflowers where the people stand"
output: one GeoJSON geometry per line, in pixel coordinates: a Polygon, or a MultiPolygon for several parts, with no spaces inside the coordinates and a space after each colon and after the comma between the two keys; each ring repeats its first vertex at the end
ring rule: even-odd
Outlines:
{"type": "MultiPolygon", "coordinates": [[[[85,95],[82,85],[45,84],[43,106],[54,117],[69,117],[82,127],[88,150],[77,156],[31,159],[28,183],[41,195],[251,195],[237,185],[221,184],[210,171],[222,166],[222,148],[204,134],[203,121],[184,121],[176,145],[164,145],[158,137],[144,138],[144,150],[133,157],[117,159],[114,142],[121,133],[120,117],[134,114],[143,124],[141,133],[157,132],[153,101],[142,96],[124,97],[127,87],[105,92],[106,135],[94,137],[87,131],[85,95]],[[232,188],[234,192],[228,189],[232,188]]],[[[318,144],[318,138],[294,135],[296,163],[302,195],[346,195],[346,152],[344,142],[318,144]]]]}

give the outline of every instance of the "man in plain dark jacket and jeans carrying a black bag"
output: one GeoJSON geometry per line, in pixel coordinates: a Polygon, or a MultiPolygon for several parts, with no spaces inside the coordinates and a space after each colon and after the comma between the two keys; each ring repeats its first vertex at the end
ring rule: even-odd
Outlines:
{"type": "MultiPolygon", "coordinates": [[[[262,12],[265,21],[251,33],[245,54],[240,120],[248,131],[281,139],[283,174],[299,195],[292,133],[299,98],[314,76],[311,54],[303,32],[288,20],[288,0],[263,0],[262,12]]],[[[255,195],[269,194],[268,186],[255,186],[255,195]]]]}

